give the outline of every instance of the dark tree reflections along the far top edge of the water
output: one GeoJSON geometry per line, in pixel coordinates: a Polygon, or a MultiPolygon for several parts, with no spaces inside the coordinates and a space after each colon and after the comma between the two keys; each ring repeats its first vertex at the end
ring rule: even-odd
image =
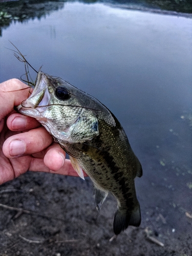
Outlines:
{"type": "MultiPolygon", "coordinates": [[[[1,3],[0,0],[0,36],[1,29],[8,27],[16,20],[23,22],[35,17],[40,19],[52,11],[63,8],[65,2],[75,1],[77,0],[19,0],[1,3]]],[[[192,13],[192,0],[79,0],[79,2],[118,4],[127,8],[132,6],[133,9],[139,5],[140,10],[143,7],[145,10],[146,8],[160,8],[161,10],[192,13]]]]}

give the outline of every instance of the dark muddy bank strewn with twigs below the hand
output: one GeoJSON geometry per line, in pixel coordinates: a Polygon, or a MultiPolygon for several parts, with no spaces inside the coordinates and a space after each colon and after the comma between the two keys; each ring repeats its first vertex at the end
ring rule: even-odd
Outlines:
{"type": "MultiPolygon", "coordinates": [[[[161,192],[166,196],[163,189],[161,192]]],[[[83,181],[28,172],[1,186],[0,255],[192,255],[192,219],[182,214],[181,226],[186,219],[189,226],[182,237],[182,230],[177,233],[169,229],[168,217],[163,217],[162,210],[147,206],[150,200],[146,195],[138,199],[142,210],[141,226],[129,227],[116,239],[111,239],[116,209],[112,196],[106,199],[98,214],[89,178],[83,181]]]]}

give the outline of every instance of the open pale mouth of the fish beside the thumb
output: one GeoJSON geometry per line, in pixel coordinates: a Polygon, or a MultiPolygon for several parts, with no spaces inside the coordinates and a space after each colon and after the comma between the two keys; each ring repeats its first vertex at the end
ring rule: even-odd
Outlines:
{"type": "Polygon", "coordinates": [[[28,99],[18,105],[16,110],[24,115],[26,114],[31,117],[40,118],[40,113],[48,108],[51,99],[47,84],[48,81],[46,75],[39,72],[36,86],[32,94],[28,99]]]}

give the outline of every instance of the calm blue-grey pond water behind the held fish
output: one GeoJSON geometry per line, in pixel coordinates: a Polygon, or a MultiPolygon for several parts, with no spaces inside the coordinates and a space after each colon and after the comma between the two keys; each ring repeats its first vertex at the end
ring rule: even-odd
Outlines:
{"type": "Polygon", "coordinates": [[[30,64],[105,104],[119,119],[143,166],[136,180],[143,222],[191,233],[192,19],[109,6],[64,3],[41,18],[12,24],[0,37],[0,82],[30,64]]]}

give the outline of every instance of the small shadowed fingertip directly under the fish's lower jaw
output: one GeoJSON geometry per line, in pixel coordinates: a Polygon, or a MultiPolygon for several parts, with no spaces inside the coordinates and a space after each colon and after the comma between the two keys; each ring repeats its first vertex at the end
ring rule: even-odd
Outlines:
{"type": "Polygon", "coordinates": [[[11,131],[26,131],[39,127],[41,124],[32,117],[19,113],[11,114],[7,118],[7,126],[11,131]]]}

